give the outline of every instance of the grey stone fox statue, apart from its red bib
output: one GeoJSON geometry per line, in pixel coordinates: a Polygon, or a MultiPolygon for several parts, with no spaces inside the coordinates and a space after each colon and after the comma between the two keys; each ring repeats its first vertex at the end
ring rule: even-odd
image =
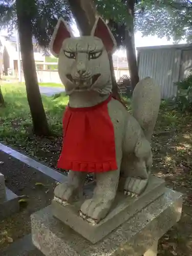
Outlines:
{"type": "MultiPolygon", "coordinates": [[[[80,37],[73,37],[65,20],[58,20],[50,50],[58,57],[59,76],[72,108],[95,106],[110,96],[112,80],[109,53],[115,47],[113,34],[99,16],[91,35],[80,37]]],[[[130,115],[118,100],[112,99],[108,103],[106,114],[109,114],[114,127],[117,170],[99,174],[95,170],[97,187],[93,198],[84,201],[80,207],[82,214],[90,221],[99,222],[108,214],[116,197],[120,176],[125,178],[122,190],[140,195],[146,188],[152,166],[150,139],[160,99],[159,87],[153,79],[147,78],[140,81],[134,90],[134,115],[130,115]]],[[[80,135],[86,136],[86,130],[80,135]]],[[[67,132],[65,136],[68,136],[67,132]]],[[[75,147],[76,144],[71,143],[71,146],[75,147]]],[[[73,161],[87,164],[89,159],[73,161]]],[[[63,201],[70,202],[82,188],[83,175],[73,171],[71,168],[68,183],[59,184],[54,191],[55,196],[63,201]]]]}

